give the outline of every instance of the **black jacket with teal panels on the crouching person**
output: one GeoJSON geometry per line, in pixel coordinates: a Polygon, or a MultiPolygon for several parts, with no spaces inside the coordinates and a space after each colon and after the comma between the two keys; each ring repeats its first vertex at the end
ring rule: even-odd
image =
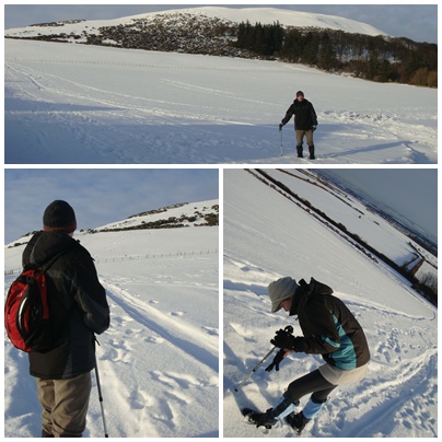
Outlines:
{"type": "Polygon", "coordinates": [[[362,327],[333,290],[313,278],[296,290],[290,315],[298,314],[304,337],[294,338],[294,350],[322,354],[341,370],[365,365],[370,350],[362,327]]]}

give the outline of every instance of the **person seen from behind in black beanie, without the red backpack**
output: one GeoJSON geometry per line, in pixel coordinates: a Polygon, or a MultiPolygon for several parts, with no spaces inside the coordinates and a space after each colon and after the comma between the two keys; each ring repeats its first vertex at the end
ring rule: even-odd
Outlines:
{"type": "Polygon", "coordinates": [[[56,346],[28,353],[30,373],[42,405],[42,438],[81,437],[86,422],[91,371],[95,368],[95,337],[109,326],[109,307],[89,252],[73,240],[77,229],[71,206],[51,202],[43,216],[44,231],[31,239],[23,266],[58,255],[46,271],[48,302],[56,346]]]}

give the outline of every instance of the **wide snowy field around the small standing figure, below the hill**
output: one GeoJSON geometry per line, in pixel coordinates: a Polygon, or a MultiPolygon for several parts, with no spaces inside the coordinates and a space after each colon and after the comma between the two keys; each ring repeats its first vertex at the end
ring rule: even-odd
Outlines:
{"type": "MultiPolygon", "coordinates": [[[[5,39],[5,163],[295,164],[298,90],[315,164],[435,164],[437,90],[299,65],[5,39]]],[[[309,163],[303,160],[302,163],[309,163]]]]}

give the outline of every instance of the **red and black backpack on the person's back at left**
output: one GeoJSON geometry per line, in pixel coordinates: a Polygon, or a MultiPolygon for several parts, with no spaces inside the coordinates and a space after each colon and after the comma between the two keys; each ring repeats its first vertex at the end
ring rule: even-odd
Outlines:
{"type": "Polygon", "coordinates": [[[66,252],[45,266],[25,266],[8,291],[4,326],[12,345],[20,350],[46,352],[58,339],[49,312],[45,271],[66,252]]]}

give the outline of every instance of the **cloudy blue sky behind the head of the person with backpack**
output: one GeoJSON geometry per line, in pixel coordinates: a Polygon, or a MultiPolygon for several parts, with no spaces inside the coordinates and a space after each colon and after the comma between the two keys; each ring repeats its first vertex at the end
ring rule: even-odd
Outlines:
{"type": "Polygon", "coordinates": [[[9,168],[4,171],[4,242],[40,230],[55,199],[74,209],[78,229],[146,210],[219,198],[218,168],[9,168]]]}

